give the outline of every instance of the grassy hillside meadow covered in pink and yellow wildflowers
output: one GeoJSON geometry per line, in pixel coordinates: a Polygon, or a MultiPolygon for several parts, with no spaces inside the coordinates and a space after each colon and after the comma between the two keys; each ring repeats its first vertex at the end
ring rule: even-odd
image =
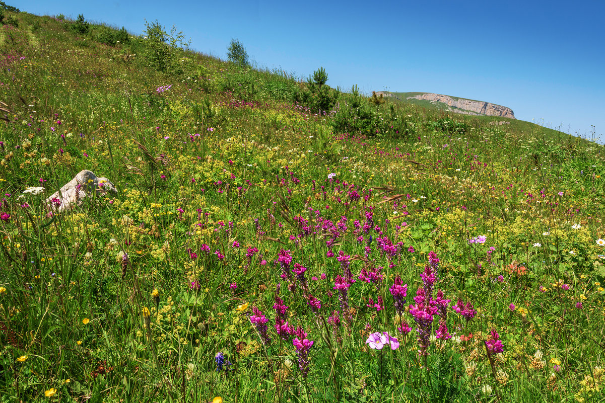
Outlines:
{"type": "Polygon", "coordinates": [[[603,146],[4,12],[1,402],[604,400],[603,146]]]}

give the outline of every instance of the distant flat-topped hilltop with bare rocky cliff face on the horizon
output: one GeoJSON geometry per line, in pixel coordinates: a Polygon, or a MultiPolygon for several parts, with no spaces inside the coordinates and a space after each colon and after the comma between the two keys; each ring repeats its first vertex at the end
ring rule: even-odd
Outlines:
{"type": "MultiPolygon", "coordinates": [[[[390,92],[377,92],[376,94],[383,94],[386,97],[396,97],[396,95],[390,92]]],[[[399,98],[399,97],[396,97],[399,98]]],[[[406,97],[406,100],[417,99],[426,100],[431,103],[443,103],[448,106],[448,111],[456,112],[465,115],[485,115],[485,116],[499,116],[505,118],[514,119],[515,115],[511,108],[506,106],[495,105],[489,102],[473,101],[465,98],[453,98],[443,94],[424,93],[406,97]]]]}

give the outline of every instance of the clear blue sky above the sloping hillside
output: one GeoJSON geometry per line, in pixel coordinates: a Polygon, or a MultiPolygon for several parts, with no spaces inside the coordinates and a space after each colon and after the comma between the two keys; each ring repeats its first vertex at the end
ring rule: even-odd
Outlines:
{"type": "Polygon", "coordinates": [[[365,92],[424,91],[508,106],[515,117],[605,143],[605,2],[7,0],[37,15],[140,34],[174,24],[226,59],[239,39],[258,66],[365,92]]]}

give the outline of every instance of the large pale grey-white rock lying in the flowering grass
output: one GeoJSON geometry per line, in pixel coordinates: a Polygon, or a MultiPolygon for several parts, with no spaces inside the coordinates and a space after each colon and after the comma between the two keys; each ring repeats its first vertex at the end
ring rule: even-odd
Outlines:
{"type": "Polygon", "coordinates": [[[62,213],[82,205],[84,199],[93,198],[95,195],[105,196],[107,193],[117,193],[114,184],[107,178],[97,178],[93,172],[83,169],[60,190],[47,198],[46,202],[50,210],[62,213]],[[53,203],[53,199],[59,199],[60,204],[57,206],[53,203]]]}

